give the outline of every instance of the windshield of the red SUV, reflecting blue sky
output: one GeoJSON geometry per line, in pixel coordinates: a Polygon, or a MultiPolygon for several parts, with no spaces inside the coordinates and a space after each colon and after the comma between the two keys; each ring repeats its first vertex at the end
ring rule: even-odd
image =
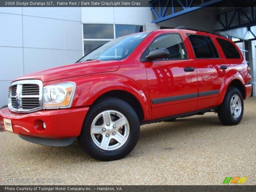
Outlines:
{"type": "Polygon", "coordinates": [[[148,32],[117,38],[93,50],[77,62],[125,59],[147,35],[148,32]]]}

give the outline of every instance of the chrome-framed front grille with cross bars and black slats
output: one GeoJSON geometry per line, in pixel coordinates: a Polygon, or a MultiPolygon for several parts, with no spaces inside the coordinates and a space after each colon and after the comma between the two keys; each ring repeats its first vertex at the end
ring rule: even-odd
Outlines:
{"type": "Polygon", "coordinates": [[[40,80],[16,81],[9,87],[8,107],[14,112],[42,109],[43,83],[40,80]]]}

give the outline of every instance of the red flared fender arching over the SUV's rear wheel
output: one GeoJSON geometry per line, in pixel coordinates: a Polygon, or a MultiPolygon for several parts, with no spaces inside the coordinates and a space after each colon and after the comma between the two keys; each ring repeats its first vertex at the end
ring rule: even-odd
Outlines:
{"type": "Polygon", "coordinates": [[[230,70],[224,77],[224,81],[221,84],[220,93],[219,93],[219,96],[217,99],[217,105],[220,105],[222,103],[222,101],[225,97],[225,94],[227,92],[228,86],[235,79],[239,80],[244,85],[244,79],[243,79],[242,75],[236,70],[230,70]]]}

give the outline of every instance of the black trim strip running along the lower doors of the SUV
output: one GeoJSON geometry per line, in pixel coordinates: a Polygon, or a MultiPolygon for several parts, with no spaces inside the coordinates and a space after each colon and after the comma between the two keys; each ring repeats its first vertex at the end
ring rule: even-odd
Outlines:
{"type": "Polygon", "coordinates": [[[192,99],[192,98],[196,98],[196,97],[203,97],[203,96],[218,94],[219,92],[220,92],[220,90],[218,89],[218,90],[205,91],[205,92],[200,92],[200,93],[192,93],[192,94],[172,96],[172,97],[156,98],[156,99],[152,99],[152,103],[158,104],[158,103],[166,103],[166,102],[170,102],[170,101],[192,99]]]}

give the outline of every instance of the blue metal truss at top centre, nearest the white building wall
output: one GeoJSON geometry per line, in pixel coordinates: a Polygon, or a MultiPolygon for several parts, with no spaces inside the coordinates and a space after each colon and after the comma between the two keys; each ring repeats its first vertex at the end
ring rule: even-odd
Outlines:
{"type": "Polygon", "coordinates": [[[155,8],[156,8],[155,4],[158,2],[158,6],[161,6],[161,1],[162,0],[152,0],[152,1],[149,2],[150,5],[151,5],[151,10],[156,15],[156,18],[157,18],[156,20],[153,20],[151,23],[159,23],[159,22],[162,22],[162,21],[165,21],[165,20],[168,20],[168,19],[172,19],[174,17],[186,14],[188,12],[195,11],[195,10],[200,9],[202,7],[206,7],[206,6],[209,6],[209,5],[214,4],[214,3],[218,3],[218,2],[223,1],[223,0],[210,0],[210,1],[207,1],[207,2],[204,2],[204,0],[201,0],[201,4],[197,4],[196,7],[192,6],[194,0],[186,0],[186,4],[183,4],[180,0],[171,0],[171,2],[170,2],[170,0],[168,0],[165,7],[164,7],[164,12],[162,12],[162,9],[159,8],[159,14],[158,14],[155,10],[155,8]],[[175,3],[175,5],[179,4],[180,7],[183,10],[175,12],[174,3],[175,3]],[[172,13],[170,15],[166,15],[166,11],[169,7],[172,8],[172,13]]]}

